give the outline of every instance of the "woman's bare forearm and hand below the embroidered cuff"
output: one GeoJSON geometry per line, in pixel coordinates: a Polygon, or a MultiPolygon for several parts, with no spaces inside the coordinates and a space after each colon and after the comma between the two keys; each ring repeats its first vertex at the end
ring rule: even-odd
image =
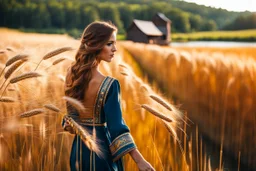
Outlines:
{"type": "Polygon", "coordinates": [[[137,166],[140,171],[155,171],[155,169],[147,162],[144,157],[141,155],[138,149],[130,151],[130,156],[137,163],[137,166]]]}

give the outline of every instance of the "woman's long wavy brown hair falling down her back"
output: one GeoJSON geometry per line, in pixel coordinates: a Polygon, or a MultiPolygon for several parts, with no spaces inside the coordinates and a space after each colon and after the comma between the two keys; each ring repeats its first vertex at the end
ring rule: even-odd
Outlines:
{"type": "Polygon", "coordinates": [[[76,61],[66,76],[66,96],[82,101],[92,78],[91,69],[98,65],[97,55],[117,28],[110,22],[93,22],[85,29],[76,53],[76,61]]]}

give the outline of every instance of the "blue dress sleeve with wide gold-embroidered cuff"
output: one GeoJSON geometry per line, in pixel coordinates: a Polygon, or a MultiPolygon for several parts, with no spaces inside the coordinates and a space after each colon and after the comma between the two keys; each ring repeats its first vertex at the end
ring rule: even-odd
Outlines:
{"type": "Polygon", "coordinates": [[[122,118],[120,103],[120,84],[114,80],[107,92],[104,104],[104,112],[108,131],[110,133],[110,151],[113,161],[136,148],[130,130],[122,118]]]}

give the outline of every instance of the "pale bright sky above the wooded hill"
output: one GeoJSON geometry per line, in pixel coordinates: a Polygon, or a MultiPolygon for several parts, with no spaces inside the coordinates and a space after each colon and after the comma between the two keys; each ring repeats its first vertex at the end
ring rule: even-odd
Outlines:
{"type": "Polygon", "coordinates": [[[256,0],[184,0],[196,4],[223,8],[229,11],[251,11],[256,12],[256,0]]]}

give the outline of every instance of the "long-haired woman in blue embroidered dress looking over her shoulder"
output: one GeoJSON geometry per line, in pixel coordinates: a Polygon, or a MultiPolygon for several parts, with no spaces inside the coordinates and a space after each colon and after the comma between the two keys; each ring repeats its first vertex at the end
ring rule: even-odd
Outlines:
{"type": "MultiPolygon", "coordinates": [[[[107,22],[88,25],[81,38],[76,62],[67,73],[66,96],[80,100],[86,108],[86,112],[79,114],[67,103],[68,116],[91,134],[96,132],[105,154],[105,157],[97,156],[79,136],[75,136],[70,156],[71,170],[122,171],[122,156],[127,153],[139,170],[154,170],[137,150],[122,118],[118,80],[99,71],[100,62],[111,62],[117,51],[116,34],[117,28],[107,22]]],[[[74,132],[65,120],[63,127],[74,132]]]]}

